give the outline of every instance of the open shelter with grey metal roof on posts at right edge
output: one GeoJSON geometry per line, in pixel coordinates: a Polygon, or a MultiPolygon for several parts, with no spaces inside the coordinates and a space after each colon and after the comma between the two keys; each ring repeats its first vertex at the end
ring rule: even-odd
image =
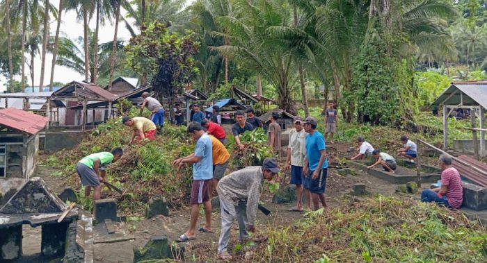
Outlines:
{"type": "MultiPolygon", "coordinates": [[[[447,117],[456,108],[470,110],[472,129],[477,128],[475,117],[480,124],[480,153],[486,152],[486,108],[487,108],[487,80],[453,82],[445,91],[433,101],[431,105],[443,108],[443,147],[448,148],[448,121],[447,117]]],[[[474,133],[475,134],[475,133],[474,133]]],[[[476,138],[474,138],[474,141],[476,138]]],[[[477,144],[474,142],[474,147],[477,144]]]]}

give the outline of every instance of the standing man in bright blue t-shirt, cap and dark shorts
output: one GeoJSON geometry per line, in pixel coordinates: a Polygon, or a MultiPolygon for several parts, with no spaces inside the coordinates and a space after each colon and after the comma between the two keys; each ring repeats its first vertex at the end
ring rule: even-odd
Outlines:
{"type": "Polygon", "coordinates": [[[308,133],[305,139],[306,157],[303,167],[303,175],[305,176],[303,185],[305,189],[311,192],[315,211],[319,208],[319,201],[323,207],[326,207],[325,187],[326,177],[328,176],[325,138],[316,130],[317,123],[317,119],[313,117],[306,118],[303,123],[304,129],[308,133]]]}

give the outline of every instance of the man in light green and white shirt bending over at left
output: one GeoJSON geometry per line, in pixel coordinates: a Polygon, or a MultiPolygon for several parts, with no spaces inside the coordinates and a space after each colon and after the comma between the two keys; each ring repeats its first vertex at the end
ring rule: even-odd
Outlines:
{"type": "Polygon", "coordinates": [[[95,188],[93,199],[99,199],[99,196],[102,193],[102,185],[100,185],[100,182],[106,180],[106,167],[108,167],[111,162],[118,161],[122,155],[122,149],[115,148],[111,153],[107,151],[93,153],[78,162],[76,171],[81,179],[81,184],[85,187],[85,197],[90,196],[91,189],[95,188]]]}

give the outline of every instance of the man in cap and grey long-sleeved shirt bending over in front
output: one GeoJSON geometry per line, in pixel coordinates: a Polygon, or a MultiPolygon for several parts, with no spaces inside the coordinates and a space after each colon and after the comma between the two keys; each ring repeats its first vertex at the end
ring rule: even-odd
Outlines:
{"type": "Polygon", "coordinates": [[[244,241],[248,232],[255,231],[255,213],[259,205],[262,182],[272,180],[279,172],[276,159],[267,158],[262,167],[246,167],[223,177],[216,192],[220,198],[221,235],[218,241],[218,256],[222,260],[231,260],[227,252],[230,230],[237,217],[239,239],[244,241]]]}

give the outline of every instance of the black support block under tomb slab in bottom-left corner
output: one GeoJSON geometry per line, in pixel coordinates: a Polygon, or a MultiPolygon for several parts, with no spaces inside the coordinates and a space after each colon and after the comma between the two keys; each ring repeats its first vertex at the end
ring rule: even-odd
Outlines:
{"type": "Polygon", "coordinates": [[[0,229],[0,262],[22,255],[22,225],[0,229]]]}

